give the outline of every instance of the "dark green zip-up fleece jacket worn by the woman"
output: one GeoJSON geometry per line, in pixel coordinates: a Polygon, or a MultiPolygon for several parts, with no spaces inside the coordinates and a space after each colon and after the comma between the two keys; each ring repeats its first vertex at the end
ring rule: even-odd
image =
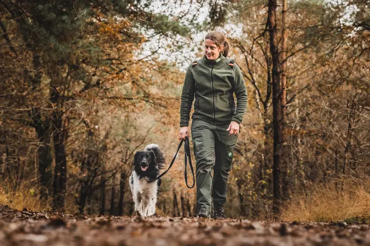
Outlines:
{"type": "Polygon", "coordinates": [[[242,122],[248,94],[240,68],[230,61],[222,55],[216,61],[204,56],[189,65],[181,95],[180,126],[189,124],[194,95],[193,120],[214,124],[242,122]],[[233,93],[237,99],[236,106],[233,93]]]}

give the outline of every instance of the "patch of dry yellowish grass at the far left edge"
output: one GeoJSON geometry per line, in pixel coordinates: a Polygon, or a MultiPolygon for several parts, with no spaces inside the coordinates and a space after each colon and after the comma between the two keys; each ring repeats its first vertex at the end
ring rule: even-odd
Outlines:
{"type": "Polygon", "coordinates": [[[8,205],[12,209],[27,208],[33,211],[49,210],[48,205],[40,202],[38,187],[32,180],[24,180],[19,185],[9,180],[2,181],[0,185],[0,204],[8,205]]]}

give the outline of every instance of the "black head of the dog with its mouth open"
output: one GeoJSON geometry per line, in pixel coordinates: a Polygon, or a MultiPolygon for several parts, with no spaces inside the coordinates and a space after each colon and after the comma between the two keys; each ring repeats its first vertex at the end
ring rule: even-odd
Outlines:
{"type": "Polygon", "coordinates": [[[134,158],[135,171],[140,176],[146,176],[157,170],[155,155],[153,151],[138,151],[134,158]]]}

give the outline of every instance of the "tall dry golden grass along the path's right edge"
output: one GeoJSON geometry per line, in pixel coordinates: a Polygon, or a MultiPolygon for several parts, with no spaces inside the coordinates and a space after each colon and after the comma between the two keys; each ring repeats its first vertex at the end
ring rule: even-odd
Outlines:
{"type": "Polygon", "coordinates": [[[281,215],[281,219],[287,221],[317,222],[342,221],[353,217],[370,217],[369,177],[315,185],[309,194],[294,198],[281,215]]]}

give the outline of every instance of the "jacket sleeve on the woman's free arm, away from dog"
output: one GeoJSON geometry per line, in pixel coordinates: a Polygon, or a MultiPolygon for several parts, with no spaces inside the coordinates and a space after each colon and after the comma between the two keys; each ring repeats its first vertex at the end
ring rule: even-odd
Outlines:
{"type": "Polygon", "coordinates": [[[232,121],[241,123],[243,121],[243,115],[247,112],[248,105],[248,93],[247,87],[243,79],[242,72],[238,65],[234,64],[234,83],[235,83],[235,95],[236,95],[236,111],[232,121]]]}

